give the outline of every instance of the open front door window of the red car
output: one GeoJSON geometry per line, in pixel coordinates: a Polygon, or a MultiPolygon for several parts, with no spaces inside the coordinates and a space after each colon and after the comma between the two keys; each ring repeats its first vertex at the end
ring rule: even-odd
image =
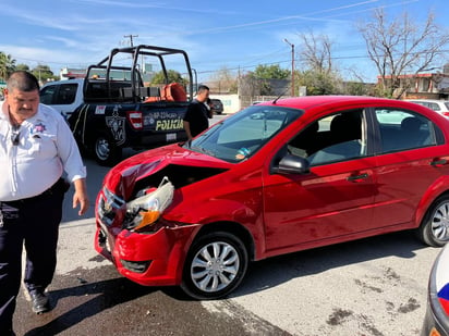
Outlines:
{"type": "Polygon", "coordinates": [[[311,165],[353,160],[366,155],[362,110],[344,111],[307,125],[288,144],[290,153],[311,165]]]}

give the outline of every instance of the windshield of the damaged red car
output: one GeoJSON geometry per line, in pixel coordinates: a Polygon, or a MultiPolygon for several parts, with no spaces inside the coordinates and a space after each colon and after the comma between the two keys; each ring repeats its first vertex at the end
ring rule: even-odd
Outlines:
{"type": "Polygon", "coordinates": [[[241,162],[302,114],[303,111],[295,109],[252,105],[214,125],[183,147],[227,162],[241,162]]]}

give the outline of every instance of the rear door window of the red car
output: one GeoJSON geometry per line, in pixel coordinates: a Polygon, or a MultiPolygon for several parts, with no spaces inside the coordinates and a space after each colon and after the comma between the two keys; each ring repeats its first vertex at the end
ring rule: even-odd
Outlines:
{"type": "Polygon", "coordinates": [[[415,149],[436,145],[435,125],[410,111],[376,109],[381,152],[415,149]]]}

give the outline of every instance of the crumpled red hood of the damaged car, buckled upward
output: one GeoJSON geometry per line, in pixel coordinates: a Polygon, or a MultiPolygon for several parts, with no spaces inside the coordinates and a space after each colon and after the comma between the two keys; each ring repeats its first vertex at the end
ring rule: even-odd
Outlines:
{"type": "Polygon", "coordinates": [[[211,169],[220,173],[231,169],[233,164],[174,144],[147,150],[120,162],[105,176],[104,185],[117,196],[128,200],[137,182],[168,166],[178,166],[181,172],[183,170],[192,172],[196,167],[197,171],[211,169]]]}

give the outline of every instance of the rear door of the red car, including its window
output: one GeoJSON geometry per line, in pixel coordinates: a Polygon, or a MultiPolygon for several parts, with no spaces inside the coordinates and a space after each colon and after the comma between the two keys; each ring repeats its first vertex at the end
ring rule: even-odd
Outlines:
{"type": "Polygon", "coordinates": [[[420,201],[441,175],[449,157],[438,126],[424,115],[378,108],[377,194],[374,216],[379,227],[414,221],[420,201]]]}

